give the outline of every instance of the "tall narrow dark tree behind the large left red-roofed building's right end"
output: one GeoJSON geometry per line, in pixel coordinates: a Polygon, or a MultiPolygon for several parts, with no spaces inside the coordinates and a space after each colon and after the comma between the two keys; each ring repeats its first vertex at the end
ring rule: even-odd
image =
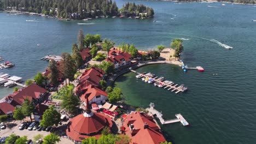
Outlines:
{"type": "MultiPolygon", "coordinates": [[[[59,81],[58,81],[59,70],[57,69],[57,63],[53,59],[49,61],[48,69],[50,70],[50,74],[48,77],[50,80],[50,83],[53,84],[57,89],[57,85],[59,84],[59,81]]],[[[57,89],[57,92],[58,92],[58,89],[57,89]]]]}

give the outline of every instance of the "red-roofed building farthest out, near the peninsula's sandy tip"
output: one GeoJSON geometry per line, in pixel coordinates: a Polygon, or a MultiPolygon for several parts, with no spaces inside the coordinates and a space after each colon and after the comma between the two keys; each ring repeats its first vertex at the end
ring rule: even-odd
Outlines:
{"type": "Polygon", "coordinates": [[[115,69],[118,69],[131,64],[131,57],[132,56],[128,52],[119,51],[114,47],[109,51],[108,57],[105,61],[113,63],[115,69]]]}

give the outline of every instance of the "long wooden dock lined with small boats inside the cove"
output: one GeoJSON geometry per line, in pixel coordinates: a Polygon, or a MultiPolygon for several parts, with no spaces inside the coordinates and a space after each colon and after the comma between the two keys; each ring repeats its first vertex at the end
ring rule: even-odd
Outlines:
{"type": "Polygon", "coordinates": [[[158,76],[146,76],[146,72],[144,72],[144,73],[137,73],[137,71],[135,71],[135,70],[131,70],[133,73],[136,73],[136,74],[138,74],[138,75],[142,75],[142,77],[145,77],[145,78],[147,78],[147,79],[153,79],[155,82],[161,82],[162,83],[162,86],[161,87],[164,87],[164,89],[166,89],[166,88],[168,88],[167,89],[167,91],[169,91],[169,90],[171,90],[172,89],[172,91],[171,92],[174,92],[174,91],[176,91],[175,93],[177,94],[177,93],[179,93],[179,92],[184,92],[183,91],[183,88],[181,88],[181,87],[178,87],[178,84],[176,84],[176,85],[174,85],[175,83],[170,83],[170,84],[167,84],[167,83],[163,83],[162,81],[164,81],[164,80],[158,80],[158,76]]]}

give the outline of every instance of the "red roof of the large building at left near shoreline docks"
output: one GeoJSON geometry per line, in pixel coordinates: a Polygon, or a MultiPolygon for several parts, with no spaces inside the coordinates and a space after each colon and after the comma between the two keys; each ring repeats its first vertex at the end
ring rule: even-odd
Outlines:
{"type": "Polygon", "coordinates": [[[46,93],[46,89],[39,87],[36,83],[31,83],[31,85],[25,87],[19,93],[13,95],[13,101],[11,101],[11,105],[21,105],[24,99],[38,99],[40,97],[40,93],[46,93]]]}

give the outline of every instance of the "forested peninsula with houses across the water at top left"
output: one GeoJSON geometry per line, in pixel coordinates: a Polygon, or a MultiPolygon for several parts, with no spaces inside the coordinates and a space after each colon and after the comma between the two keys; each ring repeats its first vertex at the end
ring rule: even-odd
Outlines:
{"type": "Polygon", "coordinates": [[[126,3],[120,10],[112,0],[0,0],[0,10],[18,10],[39,13],[66,19],[95,17],[137,17],[154,16],[153,8],[143,4],[126,3]]]}

